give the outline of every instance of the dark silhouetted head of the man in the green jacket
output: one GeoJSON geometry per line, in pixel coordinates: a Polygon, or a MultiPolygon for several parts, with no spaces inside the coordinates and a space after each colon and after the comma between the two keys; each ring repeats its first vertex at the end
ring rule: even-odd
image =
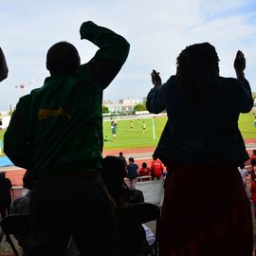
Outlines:
{"type": "Polygon", "coordinates": [[[80,64],[77,48],[67,42],[57,43],[48,49],[46,68],[50,75],[71,75],[80,64]]]}

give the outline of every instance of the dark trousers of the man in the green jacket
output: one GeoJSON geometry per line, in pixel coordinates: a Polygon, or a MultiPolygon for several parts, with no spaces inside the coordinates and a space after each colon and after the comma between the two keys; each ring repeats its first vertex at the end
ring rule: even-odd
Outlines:
{"type": "Polygon", "coordinates": [[[29,256],[64,255],[72,235],[86,256],[118,256],[119,239],[110,200],[99,175],[46,178],[31,194],[29,256]]]}

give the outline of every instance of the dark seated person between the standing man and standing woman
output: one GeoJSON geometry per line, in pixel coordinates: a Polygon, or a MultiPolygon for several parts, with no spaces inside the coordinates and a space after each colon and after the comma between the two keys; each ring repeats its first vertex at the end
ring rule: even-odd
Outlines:
{"type": "Polygon", "coordinates": [[[119,219],[119,212],[125,210],[125,206],[144,202],[143,193],[137,190],[129,190],[124,183],[126,171],[123,161],[119,157],[112,155],[105,156],[102,166],[101,176],[113,199],[119,223],[121,255],[147,255],[146,253],[149,247],[145,229],[141,225],[133,225],[133,220],[123,221],[119,219]]]}

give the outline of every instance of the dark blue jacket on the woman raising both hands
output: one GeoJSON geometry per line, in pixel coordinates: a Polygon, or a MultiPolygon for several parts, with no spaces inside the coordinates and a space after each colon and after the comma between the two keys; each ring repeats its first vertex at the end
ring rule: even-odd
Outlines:
{"type": "Polygon", "coordinates": [[[148,94],[147,109],[155,114],[166,110],[168,116],[155,156],[164,163],[246,161],[238,119],[253,106],[247,80],[218,77],[200,103],[185,90],[172,76],[148,94]]]}

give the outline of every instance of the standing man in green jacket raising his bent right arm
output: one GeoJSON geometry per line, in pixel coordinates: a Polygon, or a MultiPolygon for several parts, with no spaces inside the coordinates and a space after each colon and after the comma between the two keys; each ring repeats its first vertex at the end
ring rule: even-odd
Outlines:
{"type": "Polygon", "coordinates": [[[80,33],[100,47],[95,56],[81,64],[75,46],[51,46],[50,77],[20,99],[4,137],[6,155],[31,170],[35,181],[29,255],[63,255],[71,235],[81,255],[119,255],[115,218],[99,175],[101,104],[129,44],[93,22],[84,22],[80,33]]]}

